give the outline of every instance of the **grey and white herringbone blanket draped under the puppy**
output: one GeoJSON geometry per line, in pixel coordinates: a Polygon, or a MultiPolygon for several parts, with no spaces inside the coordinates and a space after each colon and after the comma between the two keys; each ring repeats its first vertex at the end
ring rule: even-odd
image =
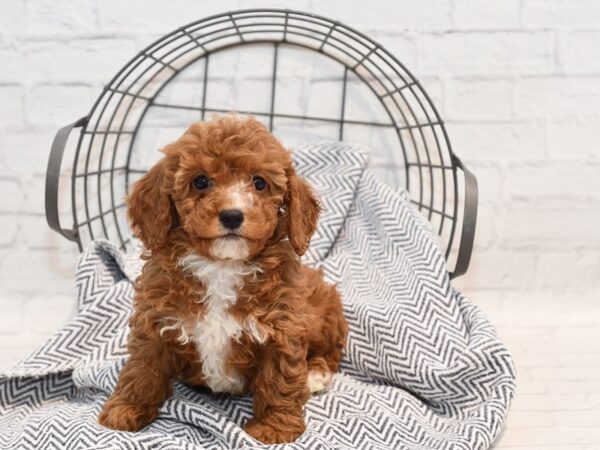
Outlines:
{"type": "MultiPolygon", "coordinates": [[[[289,449],[485,449],[515,389],[509,353],[479,308],[450,285],[435,233],[407,197],[365,169],[356,148],[322,144],[295,160],[326,212],[306,261],[344,299],[341,373],[311,397],[289,449]]],[[[96,417],[127,357],[135,255],[93,242],[77,265],[78,313],[0,380],[3,449],[254,449],[247,396],[177,384],[138,433],[96,417]]]]}

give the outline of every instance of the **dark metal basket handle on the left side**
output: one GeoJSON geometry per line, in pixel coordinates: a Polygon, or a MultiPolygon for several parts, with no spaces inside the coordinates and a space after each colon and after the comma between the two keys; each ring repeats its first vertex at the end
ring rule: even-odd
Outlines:
{"type": "Polygon", "coordinates": [[[73,242],[78,242],[79,240],[77,230],[68,230],[60,226],[60,219],[58,217],[58,183],[62,157],[69,134],[71,134],[73,128],[86,126],[88,120],[88,117],[82,117],[78,121],[58,130],[52,142],[48,168],[46,169],[46,221],[50,228],[73,242]]]}

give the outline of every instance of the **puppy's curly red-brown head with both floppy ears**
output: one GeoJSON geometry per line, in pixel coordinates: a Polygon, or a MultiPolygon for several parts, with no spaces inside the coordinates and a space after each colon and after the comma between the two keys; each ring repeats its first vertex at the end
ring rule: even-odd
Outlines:
{"type": "Polygon", "coordinates": [[[187,245],[207,258],[248,259],[286,236],[304,254],[320,206],[260,122],[196,123],[163,152],[128,197],[130,222],[147,249],[162,248],[178,220],[187,245]]]}

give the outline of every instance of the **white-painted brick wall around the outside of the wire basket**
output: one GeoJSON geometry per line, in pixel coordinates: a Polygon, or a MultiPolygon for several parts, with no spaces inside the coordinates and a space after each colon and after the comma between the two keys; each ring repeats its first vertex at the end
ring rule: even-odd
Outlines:
{"type": "Polygon", "coordinates": [[[136,50],[192,19],[281,6],[371,34],[431,86],[478,176],[475,301],[600,292],[596,0],[0,3],[0,361],[67,320],[76,249],[44,219],[49,146],[136,50]]]}

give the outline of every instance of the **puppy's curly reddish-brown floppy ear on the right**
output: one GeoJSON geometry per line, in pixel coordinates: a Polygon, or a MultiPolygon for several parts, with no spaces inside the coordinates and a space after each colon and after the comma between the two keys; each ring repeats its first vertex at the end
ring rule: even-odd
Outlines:
{"type": "Polygon", "coordinates": [[[296,175],[292,167],[286,172],[288,185],[285,204],[288,216],[288,238],[296,253],[303,255],[317,229],[321,205],[312,188],[296,175]]]}

